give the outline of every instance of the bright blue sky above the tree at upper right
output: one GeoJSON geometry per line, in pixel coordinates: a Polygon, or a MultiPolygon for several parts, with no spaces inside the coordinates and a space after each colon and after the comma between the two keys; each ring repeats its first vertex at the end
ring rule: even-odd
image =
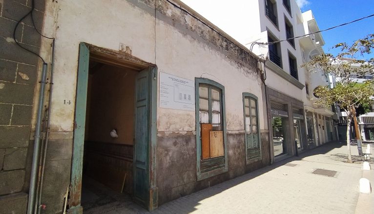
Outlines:
{"type": "MultiPolygon", "coordinates": [[[[296,0],[302,12],[312,10],[320,30],[353,21],[374,14],[374,0],[296,0]]],[[[338,49],[331,49],[337,43],[347,42],[374,34],[374,17],[349,25],[322,32],[326,42],[325,53],[336,55],[338,49]]],[[[364,56],[374,58],[374,54],[364,56]]]]}

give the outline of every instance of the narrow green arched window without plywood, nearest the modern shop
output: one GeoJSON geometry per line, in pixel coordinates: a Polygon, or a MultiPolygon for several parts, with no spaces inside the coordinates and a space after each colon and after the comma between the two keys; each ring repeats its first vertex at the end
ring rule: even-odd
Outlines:
{"type": "Polygon", "coordinates": [[[251,93],[243,93],[244,132],[247,164],[261,160],[258,101],[251,93]]]}

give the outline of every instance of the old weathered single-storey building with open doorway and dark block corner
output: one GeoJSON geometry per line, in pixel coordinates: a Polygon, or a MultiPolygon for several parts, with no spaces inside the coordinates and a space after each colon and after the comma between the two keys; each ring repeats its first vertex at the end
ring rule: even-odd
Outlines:
{"type": "Polygon", "coordinates": [[[0,5],[0,213],[81,213],[91,178],[152,210],[270,164],[261,60],[182,2],[0,5]]]}

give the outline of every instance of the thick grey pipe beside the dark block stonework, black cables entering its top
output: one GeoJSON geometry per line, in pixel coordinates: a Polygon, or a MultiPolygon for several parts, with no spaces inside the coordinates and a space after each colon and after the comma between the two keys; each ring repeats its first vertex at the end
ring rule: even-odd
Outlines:
{"type": "Polygon", "coordinates": [[[42,79],[41,86],[39,91],[39,101],[38,101],[38,110],[37,110],[37,121],[35,127],[35,140],[34,140],[34,153],[31,166],[31,176],[30,176],[30,189],[27,202],[27,214],[32,214],[35,204],[35,191],[36,191],[36,181],[38,176],[38,163],[40,155],[40,139],[41,139],[41,122],[42,122],[42,109],[44,103],[44,86],[46,84],[46,71],[47,63],[43,63],[42,68],[42,79]]]}

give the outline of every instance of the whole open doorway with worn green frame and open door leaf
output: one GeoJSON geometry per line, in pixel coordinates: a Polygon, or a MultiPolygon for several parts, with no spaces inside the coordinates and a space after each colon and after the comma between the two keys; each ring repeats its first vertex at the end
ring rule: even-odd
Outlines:
{"type": "Polygon", "coordinates": [[[157,207],[156,103],[155,65],[80,44],[69,212],[130,196],[157,207]]]}

